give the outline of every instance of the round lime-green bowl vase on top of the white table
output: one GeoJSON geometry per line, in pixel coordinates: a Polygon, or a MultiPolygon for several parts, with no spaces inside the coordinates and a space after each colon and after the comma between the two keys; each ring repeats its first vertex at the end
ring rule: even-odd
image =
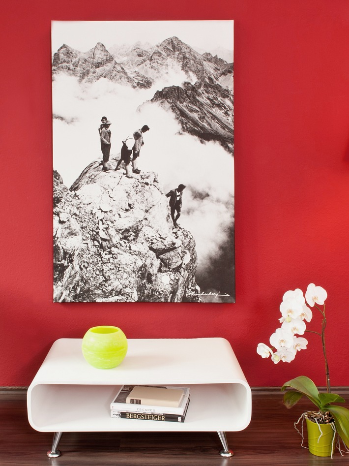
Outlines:
{"type": "Polygon", "coordinates": [[[84,335],[82,351],[91,366],[112,369],[126,356],[127,338],[122,330],[111,325],[92,327],[84,335]]]}

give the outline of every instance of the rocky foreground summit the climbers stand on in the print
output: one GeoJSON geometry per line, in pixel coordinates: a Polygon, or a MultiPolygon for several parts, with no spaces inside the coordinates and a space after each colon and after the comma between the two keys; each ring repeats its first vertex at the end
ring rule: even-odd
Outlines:
{"type": "Polygon", "coordinates": [[[54,171],[54,301],[197,301],[191,233],[174,229],[157,175],[92,162],[68,189],[54,171]]]}

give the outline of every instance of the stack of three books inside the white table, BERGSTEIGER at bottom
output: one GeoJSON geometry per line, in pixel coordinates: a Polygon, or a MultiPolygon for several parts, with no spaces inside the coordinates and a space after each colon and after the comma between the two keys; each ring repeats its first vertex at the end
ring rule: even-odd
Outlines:
{"type": "Polygon", "coordinates": [[[110,404],[111,417],[184,422],[190,389],[159,385],[123,385],[110,404]]]}

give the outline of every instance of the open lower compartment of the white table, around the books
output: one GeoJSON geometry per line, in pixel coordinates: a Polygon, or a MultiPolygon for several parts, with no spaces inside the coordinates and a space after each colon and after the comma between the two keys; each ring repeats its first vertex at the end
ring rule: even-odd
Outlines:
{"type": "Polygon", "coordinates": [[[28,394],[31,427],[40,432],[241,431],[251,420],[251,390],[241,383],[195,384],[183,423],[113,419],[119,386],[38,384],[28,394]]]}

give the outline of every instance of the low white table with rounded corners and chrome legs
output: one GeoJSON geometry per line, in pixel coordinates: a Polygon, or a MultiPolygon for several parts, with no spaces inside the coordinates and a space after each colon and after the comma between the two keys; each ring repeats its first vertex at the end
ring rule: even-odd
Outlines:
{"type": "Polygon", "coordinates": [[[128,340],[114,369],[95,369],[84,359],[81,339],[59,339],[28,389],[28,418],[39,432],[53,432],[50,458],[60,455],[62,432],[217,431],[229,457],[225,431],[251,420],[251,389],[223,338],[128,340]],[[190,386],[185,422],[110,417],[110,403],[123,384],[190,386]]]}

